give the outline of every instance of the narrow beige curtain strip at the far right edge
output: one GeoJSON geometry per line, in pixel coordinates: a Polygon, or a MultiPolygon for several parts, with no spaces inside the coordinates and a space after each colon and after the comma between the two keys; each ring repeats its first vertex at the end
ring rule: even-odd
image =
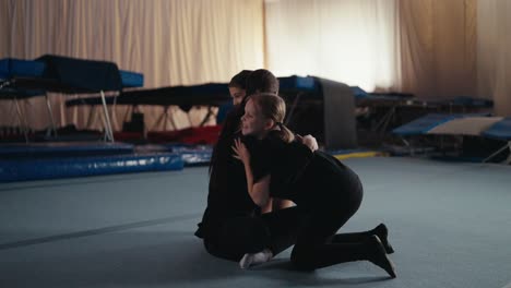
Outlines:
{"type": "Polygon", "coordinates": [[[477,84],[494,98],[495,112],[511,117],[511,2],[477,2],[477,84]]]}

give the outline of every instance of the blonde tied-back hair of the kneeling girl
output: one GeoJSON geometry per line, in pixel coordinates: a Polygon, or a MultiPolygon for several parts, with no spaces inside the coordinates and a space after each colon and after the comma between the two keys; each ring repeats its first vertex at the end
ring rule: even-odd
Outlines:
{"type": "Polygon", "coordinates": [[[293,142],[295,134],[284,125],[284,118],[286,117],[286,103],[276,94],[272,93],[258,93],[250,95],[254,106],[261,111],[263,117],[271,119],[281,129],[280,137],[286,142],[293,142]]]}

